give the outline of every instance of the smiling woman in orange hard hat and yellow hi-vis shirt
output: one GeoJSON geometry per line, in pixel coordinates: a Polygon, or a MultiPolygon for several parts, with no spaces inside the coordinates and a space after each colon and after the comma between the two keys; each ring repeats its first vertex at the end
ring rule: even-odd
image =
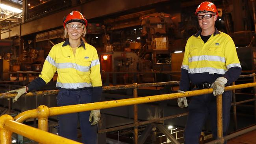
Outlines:
{"type": "MultiPolygon", "coordinates": [[[[82,40],[86,34],[87,20],[79,11],[72,11],[64,17],[63,26],[66,41],[52,47],[38,78],[26,87],[9,91],[18,92],[14,101],[27,91],[46,85],[56,71],[58,72],[56,87],[59,89],[57,106],[100,101],[102,81],[98,54],[93,46],[82,40]]],[[[86,111],[63,114],[57,118],[58,135],[77,140],[79,121],[83,143],[97,143],[96,124],[100,120],[100,110],[93,110],[91,113],[86,111]]]]}

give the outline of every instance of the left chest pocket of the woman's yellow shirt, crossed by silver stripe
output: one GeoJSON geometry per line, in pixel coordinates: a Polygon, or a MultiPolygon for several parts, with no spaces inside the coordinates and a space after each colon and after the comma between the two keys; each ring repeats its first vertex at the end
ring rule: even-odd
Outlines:
{"type": "Polygon", "coordinates": [[[56,67],[58,73],[68,73],[70,72],[70,68],[72,68],[72,63],[69,57],[59,57],[56,58],[56,67]]]}

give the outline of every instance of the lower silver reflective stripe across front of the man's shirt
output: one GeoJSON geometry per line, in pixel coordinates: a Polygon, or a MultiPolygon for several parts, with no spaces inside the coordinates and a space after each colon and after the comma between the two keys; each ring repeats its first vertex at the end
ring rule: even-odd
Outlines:
{"type": "Polygon", "coordinates": [[[203,72],[210,72],[210,73],[216,73],[216,74],[225,74],[226,70],[211,68],[211,67],[189,68],[189,70],[188,70],[189,74],[198,74],[198,73],[203,73],[203,72]]]}

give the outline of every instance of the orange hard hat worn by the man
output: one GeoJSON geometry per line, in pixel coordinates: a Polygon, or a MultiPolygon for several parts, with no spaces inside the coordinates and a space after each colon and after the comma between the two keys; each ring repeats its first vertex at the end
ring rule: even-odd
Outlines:
{"type": "Polygon", "coordinates": [[[206,12],[213,12],[216,13],[217,16],[219,16],[217,7],[212,2],[202,2],[195,11],[195,15],[197,13],[206,13],[206,12]]]}

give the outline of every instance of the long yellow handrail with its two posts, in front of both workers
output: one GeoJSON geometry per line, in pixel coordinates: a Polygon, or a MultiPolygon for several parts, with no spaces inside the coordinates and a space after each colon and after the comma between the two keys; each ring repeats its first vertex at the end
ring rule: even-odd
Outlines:
{"type": "MultiPolygon", "coordinates": [[[[227,90],[234,90],[234,89],[243,89],[247,87],[256,87],[256,83],[246,83],[240,85],[232,85],[225,87],[225,91],[227,90]]],[[[210,94],[213,92],[213,89],[203,89],[203,90],[192,90],[187,92],[181,93],[172,93],[172,94],[161,94],[155,96],[145,96],[140,98],[128,98],[123,100],[111,100],[106,102],[96,102],[96,103],[86,103],[86,104],[78,104],[78,105],[68,105],[62,107],[51,107],[48,108],[46,106],[39,106],[37,110],[29,110],[19,115],[15,116],[16,122],[23,122],[28,118],[39,118],[39,127],[45,131],[47,131],[47,118],[48,116],[55,116],[60,114],[67,114],[67,113],[78,113],[83,111],[91,111],[95,109],[106,109],[111,107],[120,107],[120,106],[127,106],[127,105],[134,105],[140,103],[150,103],[150,102],[157,102],[163,100],[170,100],[174,98],[182,98],[182,97],[189,97],[189,96],[197,96],[201,94],[210,94]]],[[[218,138],[220,138],[221,142],[223,143],[223,135],[222,135],[222,95],[217,96],[217,123],[218,123],[218,138]]],[[[1,136],[2,137],[2,136],[1,136]]]]}

